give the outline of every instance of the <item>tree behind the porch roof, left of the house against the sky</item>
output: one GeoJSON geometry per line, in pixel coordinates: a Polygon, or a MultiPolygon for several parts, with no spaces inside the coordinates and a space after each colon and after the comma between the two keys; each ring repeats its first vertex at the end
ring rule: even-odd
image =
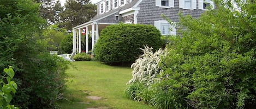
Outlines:
{"type": "Polygon", "coordinates": [[[97,14],[97,6],[89,0],[68,0],[65,8],[59,14],[61,19],[59,26],[67,30],[90,21],[97,14]]]}

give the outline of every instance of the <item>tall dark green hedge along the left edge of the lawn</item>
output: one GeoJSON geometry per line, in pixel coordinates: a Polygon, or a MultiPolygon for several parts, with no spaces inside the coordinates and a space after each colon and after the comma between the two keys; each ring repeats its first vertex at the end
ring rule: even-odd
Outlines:
{"type": "Polygon", "coordinates": [[[67,62],[47,52],[39,4],[32,0],[3,0],[0,8],[0,69],[14,66],[14,81],[19,86],[11,104],[55,108],[66,87],[67,62]]]}

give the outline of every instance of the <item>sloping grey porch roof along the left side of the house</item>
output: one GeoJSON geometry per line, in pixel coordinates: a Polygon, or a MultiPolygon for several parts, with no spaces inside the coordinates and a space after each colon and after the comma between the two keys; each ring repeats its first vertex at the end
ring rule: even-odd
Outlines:
{"type": "Polygon", "coordinates": [[[113,10],[110,10],[104,14],[101,14],[101,15],[96,15],[92,18],[92,21],[94,20],[98,20],[98,19],[101,19],[103,17],[107,17],[107,16],[110,16],[116,12],[120,12],[122,10],[126,10],[126,9],[129,9],[129,8],[132,8],[139,0],[133,0],[132,2],[130,2],[129,4],[126,4],[124,5],[123,7],[119,7],[117,9],[113,9],[113,10]]]}

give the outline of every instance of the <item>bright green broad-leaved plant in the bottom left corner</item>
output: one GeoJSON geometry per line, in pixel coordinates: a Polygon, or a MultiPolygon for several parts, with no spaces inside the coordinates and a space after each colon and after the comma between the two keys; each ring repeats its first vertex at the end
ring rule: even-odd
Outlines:
{"type": "Polygon", "coordinates": [[[10,105],[12,94],[16,93],[17,85],[11,80],[14,77],[14,70],[11,66],[4,68],[5,74],[1,76],[0,81],[0,108],[4,109],[18,109],[14,105],[10,105]]]}

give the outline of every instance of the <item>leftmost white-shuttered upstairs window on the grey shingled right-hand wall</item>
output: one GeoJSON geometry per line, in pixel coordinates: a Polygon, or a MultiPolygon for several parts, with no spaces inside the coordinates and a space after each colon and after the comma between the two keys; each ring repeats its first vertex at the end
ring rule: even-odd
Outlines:
{"type": "Polygon", "coordinates": [[[174,0],[156,0],[156,7],[174,8],[174,0]]]}

